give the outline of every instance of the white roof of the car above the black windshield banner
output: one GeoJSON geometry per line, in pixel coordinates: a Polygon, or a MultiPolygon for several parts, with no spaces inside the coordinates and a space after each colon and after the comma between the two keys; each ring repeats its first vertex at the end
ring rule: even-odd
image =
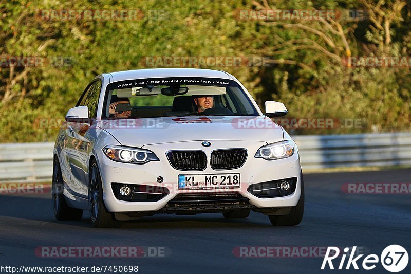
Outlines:
{"type": "Polygon", "coordinates": [[[234,80],[222,70],[202,68],[146,68],[110,72],[109,75],[113,82],[161,77],[207,77],[234,80]]]}

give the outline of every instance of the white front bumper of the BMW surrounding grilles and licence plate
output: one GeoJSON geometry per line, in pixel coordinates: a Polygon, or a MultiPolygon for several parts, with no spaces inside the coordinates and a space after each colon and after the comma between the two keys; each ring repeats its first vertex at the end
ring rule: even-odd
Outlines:
{"type": "Polygon", "coordinates": [[[255,152],[265,142],[243,141],[211,141],[212,147],[201,146],[201,141],[176,142],[165,144],[146,145],[144,149],[153,151],[160,161],[151,161],[144,165],[132,163],[121,163],[110,160],[102,151],[97,155],[100,173],[103,181],[103,199],[109,212],[156,212],[182,193],[238,193],[242,197],[249,199],[249,204],[256,208],[280,208],[296,206],[301,195],[301,167],[298,151],[291,157],[279,160],[265,160],[254,158],[255,152]],[[166,151],[169,150],[203,150],[209,159],[211,151],[224,148],[246,148],[248,157],[243,166],[232,170],[213,170],[210,165],[203,171],[180,171],[174,169],[166,158],[166,151]],[[221,173],[240,173],[240,188],[237,189],[218,189],[218,190],[180,190],[178,189],[178,175],[190,174],[221,174],[221,173]],[[163,177],[162,183],[157,182],[157,177],[163,177]],[[247,189],[252,184],[272,180],[282,180],[285,178],[296,177],[295,191],[283,197],[259,198],[251,194],[247,189]],[[170,193],[157,200],[156,202],[130,202],[119,200],[115,197],[111,183],[150,185],[166,187],[170,193]]]}

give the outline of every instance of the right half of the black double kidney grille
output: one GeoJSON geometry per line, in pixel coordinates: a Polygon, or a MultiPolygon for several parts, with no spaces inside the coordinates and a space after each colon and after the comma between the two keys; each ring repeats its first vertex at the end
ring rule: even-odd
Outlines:
{"type": "Polygon", "coordinates": [[[236,169],[247,159],[245,149],[215,150],[211,153],[210,163],[214,170],[236,169]]]}

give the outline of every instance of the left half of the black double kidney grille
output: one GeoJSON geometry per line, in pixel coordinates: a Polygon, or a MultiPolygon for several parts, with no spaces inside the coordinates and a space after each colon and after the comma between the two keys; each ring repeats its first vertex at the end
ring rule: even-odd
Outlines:
{"type": "Polygon", "coordinates": [[[200,150],[169,151],[167,158],[178,170],[204,170],[207,167],[206,153],[200,150]]]}

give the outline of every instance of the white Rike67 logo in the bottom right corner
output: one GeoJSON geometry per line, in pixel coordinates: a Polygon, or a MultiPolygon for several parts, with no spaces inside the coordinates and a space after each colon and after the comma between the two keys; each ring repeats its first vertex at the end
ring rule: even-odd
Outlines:
{"type": "MultiPolygon", "coordinates": [[[[350,269],[352,266],[354,269],[359,269],[359,266],[362,266],[365,270],[371,270],[376,268],[379,261],[381,262],[382,266],[389,272],[400,272],[405,269],[408,265],[408,253],[405,248],[400,245],[390,245],[387,246],[381,253],[381,256],[378,257],[376,254],[369,254],[365,258],[363,258],[362,264],[360,264],[361,257],[364,254],[359,254],[357,257],[354,258],[356,254],[357,246],[352,247],[352,249],[346,247],[344,248],[344,254],[341,256],[340,264],[338,265],[339,270],[342,270],[345,264],[345,259],[348,255],[348,260],[346,263],[345,269],[350,269]],[[351,250],[350,254],[348,252],[351,250]]],[[[329,269],[334,269],[334,265],[332,264],[332,260],[340,257],[340,249],[335,246],[329,246],[325,253],[325,257],[323,260],[323,264],[321,265],[321,269],[326,269],[328,265],[329,269]]]]}

